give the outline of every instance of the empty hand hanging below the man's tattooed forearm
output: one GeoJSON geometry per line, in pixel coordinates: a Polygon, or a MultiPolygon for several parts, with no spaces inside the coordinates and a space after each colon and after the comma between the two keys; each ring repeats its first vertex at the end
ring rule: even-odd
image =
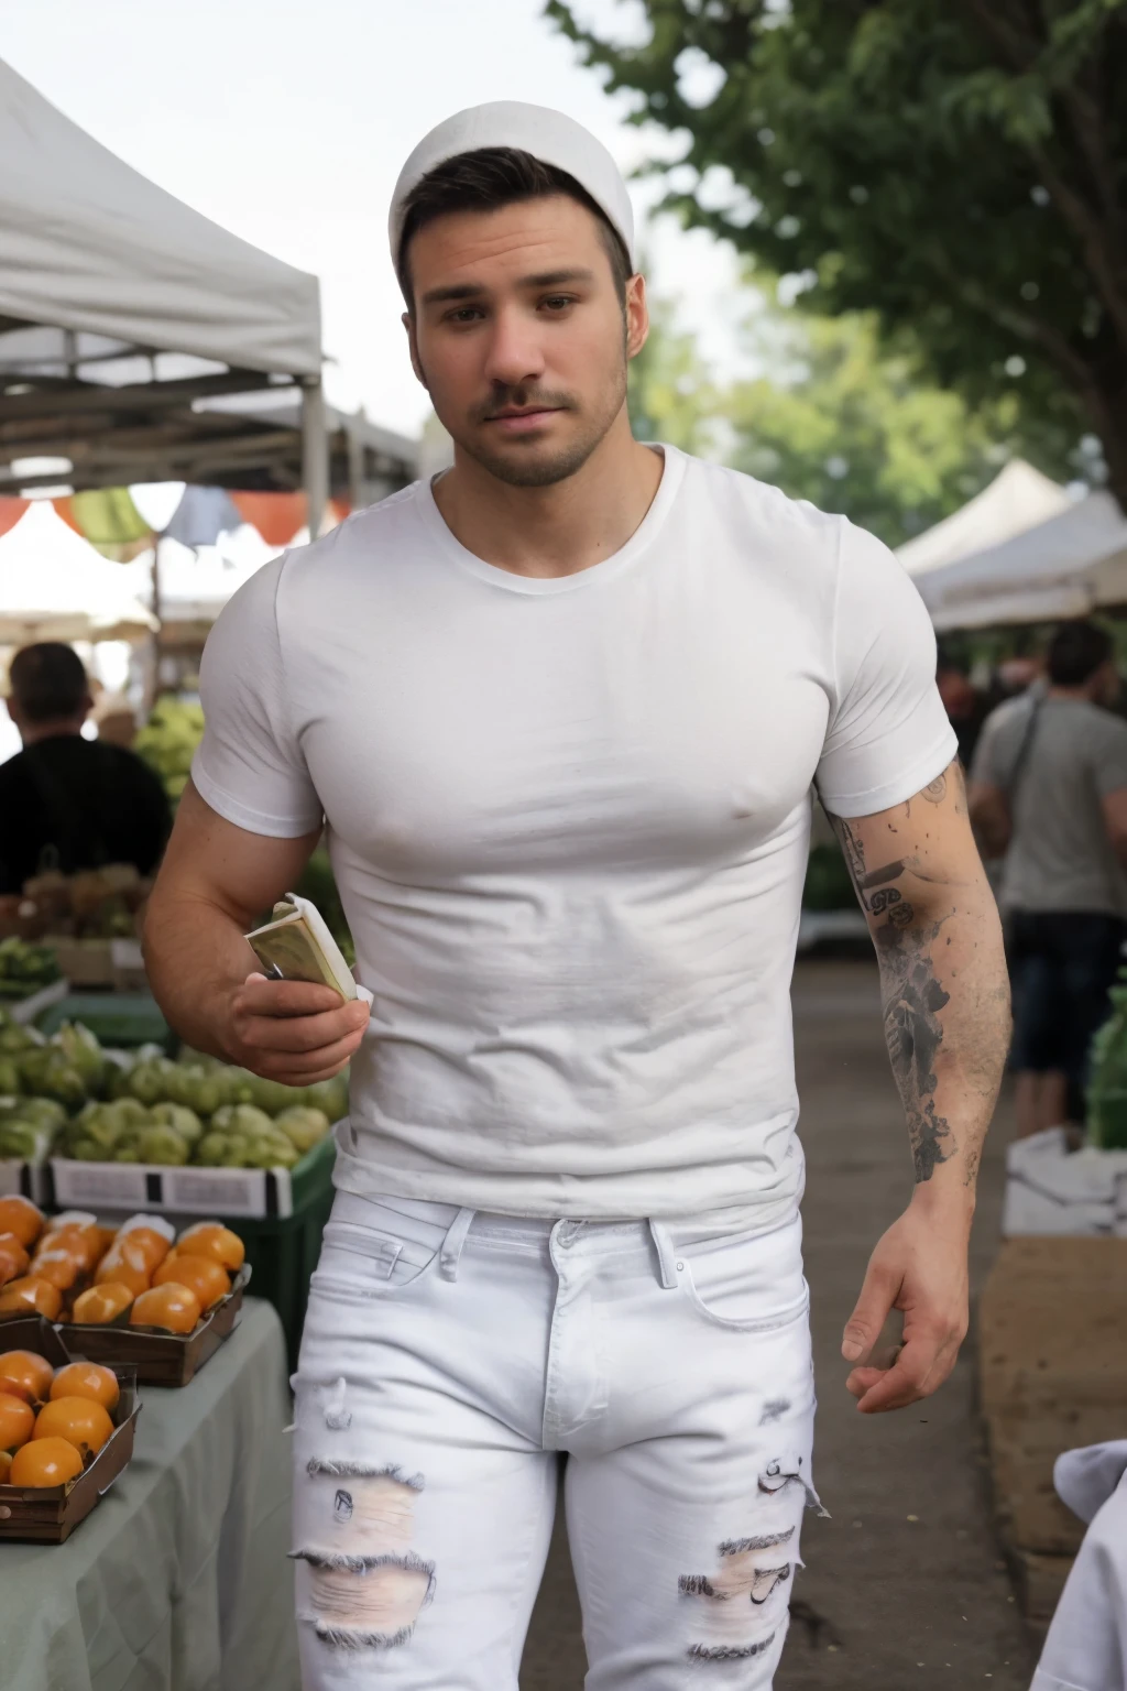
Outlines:
{"type": "Polygon", "coordinates": [[[841,1354],[858,1363],[845,1385],[862,1414],[917,1404],[951,1373],[970,1319],[968,1238],[966,1207],[945,1207],[917,1187],[909,1207],[877,1241],[841,1338],[841,1354]],[[892,1309],[904,1314],[904,1348],[892,1368],[865,1366],[862,1358],[892,1309]]]}

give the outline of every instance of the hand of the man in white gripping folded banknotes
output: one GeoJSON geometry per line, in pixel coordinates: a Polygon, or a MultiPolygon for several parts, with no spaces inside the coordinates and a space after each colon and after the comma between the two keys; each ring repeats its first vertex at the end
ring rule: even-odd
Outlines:
{"type": "Polygon", "coordinates": [[[231,1062],[267,1081],[313,1086],[340,1074],[368,1015],[368,1004],[341,1001],[331,986],[250,974],[231,999],[223,1045],[231,1062]]]}

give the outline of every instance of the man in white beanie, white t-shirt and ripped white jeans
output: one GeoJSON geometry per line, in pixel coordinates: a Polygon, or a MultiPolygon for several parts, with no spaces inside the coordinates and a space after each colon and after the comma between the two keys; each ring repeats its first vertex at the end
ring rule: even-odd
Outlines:
{"type": "Polygon", "coordinates": [[[204,656],[155,993],[262,1074],[355,1053],[296,1378],[318,1691],[514,1691],[561,1451],[588,1688],[772,1683],[816,1503],[789,1011],[814,780],[917,1180],[845,1333],[860,1407],[933,1392],[966,1327],[1007,989],[931,627],[868,534],[632,440],[632,240],[563,115],[427,135],[390,244],[455,465],[267,565],[204,656]],[[370,1020],[247,974],[323,817],[370,1020]]]}

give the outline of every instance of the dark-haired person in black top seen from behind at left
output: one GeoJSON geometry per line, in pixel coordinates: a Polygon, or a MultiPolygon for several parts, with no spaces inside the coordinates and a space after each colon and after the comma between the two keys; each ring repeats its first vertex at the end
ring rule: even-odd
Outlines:
{"type": "Polygon", "coordinates": [[[83,739],[93,698],[78,653],[24,646],[8,687],[24,749],[0,764],[0,893],[42,869],[132,862],[149,874],[169,837],[169,802],[132,751],[83,739]]]}

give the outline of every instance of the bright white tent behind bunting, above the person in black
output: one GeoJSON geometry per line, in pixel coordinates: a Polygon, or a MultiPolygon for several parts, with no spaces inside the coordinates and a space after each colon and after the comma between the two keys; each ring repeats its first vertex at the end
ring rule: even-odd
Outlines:
{"type": "Polygon", "coordinates": [[[125,570],[79,539],[49,501],[32,501],[0,536],[0,644],[140,641],[155,627],[125,570]]]}

